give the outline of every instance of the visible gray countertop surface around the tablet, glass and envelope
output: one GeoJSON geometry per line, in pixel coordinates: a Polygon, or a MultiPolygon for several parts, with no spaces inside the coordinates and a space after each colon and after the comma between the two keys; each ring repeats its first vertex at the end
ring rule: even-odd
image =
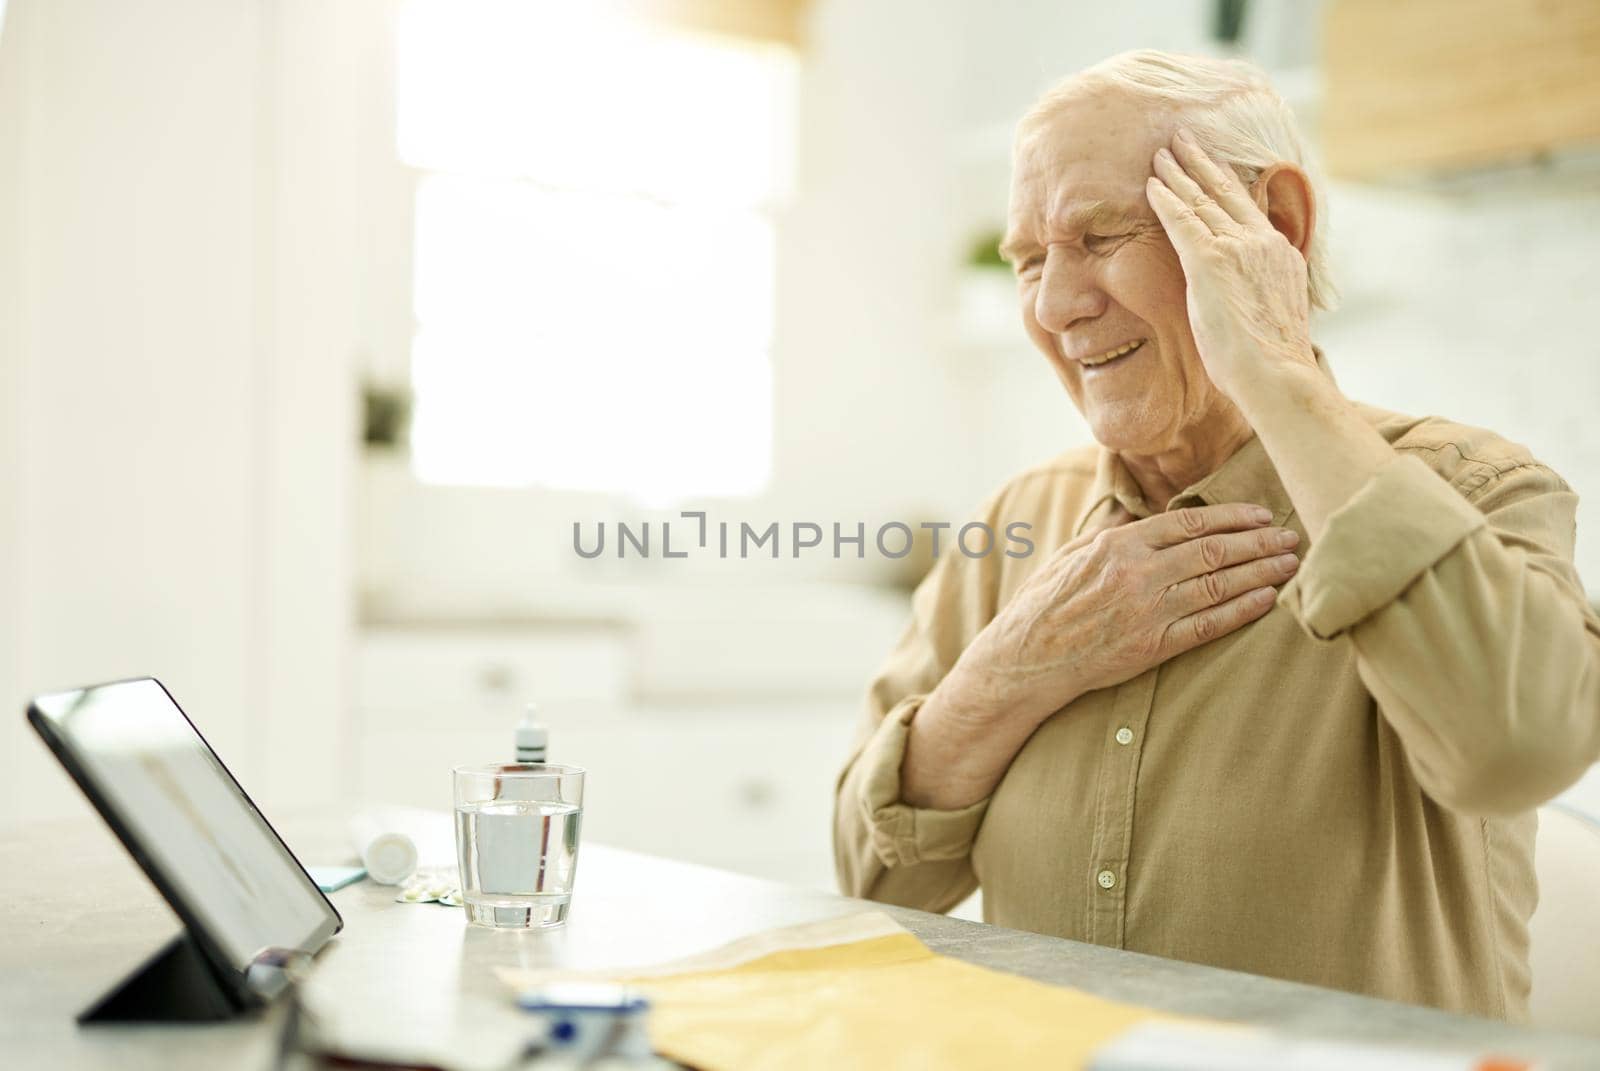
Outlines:
{"type": "MultiPolygon", "coordinates": [[[[280,832],[306,863],[347,860],[342,823],[280,832]]],[[[136,967],[176,919],[112,836],[90,820],[0,831],[0,1063],[6,1068],[264,1068],[280,1010],[219,1026],[78,1028],[74,1015],[136,967]]],[[[757,930],[882,909],[933,949],[1040,981],[1171,1012],[1344,1041],[1466,1047],[1600,1068],[1600,1039],[1373,1001],[1134,953],[883,908],[723,871],[586,845],[568,925],[467,927],[458,909],[398,905],[360,882],[333,901],[346,930],[309,986],[317,1007],[390,1041],[451,1045],[520,1021],[496,965],[640,967],[757,930]],[[442,1042],[442,1039],[446,1039],[442,1042]]],[[[466,1042],[461,1042],[466,1044],[466,1042]]]]}

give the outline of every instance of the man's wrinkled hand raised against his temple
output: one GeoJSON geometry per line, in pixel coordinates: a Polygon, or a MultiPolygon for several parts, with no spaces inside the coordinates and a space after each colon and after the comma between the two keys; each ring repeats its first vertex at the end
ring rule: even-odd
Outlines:
{"type": "Polygon", "coordinates": [[[1146,179],[1189,283],[1189,325],[1211,381],[1235,402],[1270,362],[1315,365],[1306,258],[1230,168],[1182,130],[1146,179]]]}

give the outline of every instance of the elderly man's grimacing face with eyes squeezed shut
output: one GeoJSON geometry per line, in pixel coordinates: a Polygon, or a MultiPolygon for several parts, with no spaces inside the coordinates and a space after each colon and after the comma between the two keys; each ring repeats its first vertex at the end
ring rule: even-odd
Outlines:
{"type": "Polygon", "coordinates": [[[1003,250],[1027,333],[1094,437],[1136,456],[1194,450],[1238,419],[1200,363],[1178,253],[1144,197],[1176,122],[1086,93],[1021,141],[1011,176],[1003,250]]]}

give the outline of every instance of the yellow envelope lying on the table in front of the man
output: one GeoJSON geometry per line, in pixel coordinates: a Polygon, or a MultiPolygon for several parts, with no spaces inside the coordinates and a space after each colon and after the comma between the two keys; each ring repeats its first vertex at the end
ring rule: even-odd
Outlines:
{"type": "Polygon", "coordinates": [[[656,1050],[702,1071],[1059,1071],[1136,1023],[1171,1018],[938,956],[883,914],[610,977],[650,997],[656,1050]]]}

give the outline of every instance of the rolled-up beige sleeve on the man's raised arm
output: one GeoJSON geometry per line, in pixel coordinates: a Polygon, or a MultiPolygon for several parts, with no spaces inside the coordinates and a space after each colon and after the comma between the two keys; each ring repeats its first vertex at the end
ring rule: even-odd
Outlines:
{"type": "Polygon", "coordinates": [[[1571,564],[1576,506],[1531,461],[1448,482],[1402,455],[1328,519],[1280,594],[1309,636],[1354,645],[1446,807],[1526,810],[1600,759],[1600,620],[1571,564]]]}

